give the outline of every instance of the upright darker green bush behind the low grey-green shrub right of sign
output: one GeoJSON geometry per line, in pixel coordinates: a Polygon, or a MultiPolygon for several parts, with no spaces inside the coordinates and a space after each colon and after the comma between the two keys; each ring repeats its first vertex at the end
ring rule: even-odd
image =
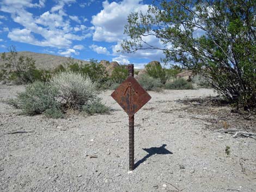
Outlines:
{"type": "Polygon", "coordinates": [[[150,77],[153,77],[155,79],[159,78],[162,84],[166,83],[166,69],[163,69],[160,63],[156,65],[149,63],[145,65],[145,70],[150,77]]]}

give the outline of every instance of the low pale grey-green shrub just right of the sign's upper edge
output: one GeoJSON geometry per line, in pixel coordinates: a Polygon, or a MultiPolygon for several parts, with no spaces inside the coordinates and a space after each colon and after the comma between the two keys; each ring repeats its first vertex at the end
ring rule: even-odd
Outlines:
{"type": "Polygon", "coordinates": [[[160,91],[163,86],[159,78],[155,79],[147,74],[139,76],[138,83],[147,91],[160,91]]]}

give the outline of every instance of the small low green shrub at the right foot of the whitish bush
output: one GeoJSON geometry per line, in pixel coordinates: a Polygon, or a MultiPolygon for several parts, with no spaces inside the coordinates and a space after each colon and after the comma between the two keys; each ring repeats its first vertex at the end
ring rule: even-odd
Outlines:
{"type": "Polygon", "coordinates": [[[87,103],[82,108],[83,112],[93,115],[95,113],[103,114],[103,113],[109,113],[109,107],[105,106],[101,103],[99,99],[95,100],[94,102],[87,103]]]}

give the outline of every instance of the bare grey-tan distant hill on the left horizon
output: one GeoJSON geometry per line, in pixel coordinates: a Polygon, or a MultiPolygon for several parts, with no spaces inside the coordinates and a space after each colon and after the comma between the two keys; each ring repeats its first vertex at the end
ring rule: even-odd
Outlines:
{"type": "MultiPolygon", "coordinates": [[[[2,53],[0,53],[2,55],[2,53]]],[[[7,53],[8,54],[8,53],[7,53]]],[[[57,55],[51,54],[42,54],[42,53],[34,53],[28,51],[18,52],[18,57],[23,55],[25,57],[32,57],[35,60],[35,66],[38,69],[54,69],[60,64],[64,64],[69,61],[67,57],[61,57],[57,55]]],[[[83,64],[89,64],[88,61],[74,59],[75,61],[82,61],[83,64]]],[[[3,61],[0,57],[0,65],[3,64],[3,61]]]]}

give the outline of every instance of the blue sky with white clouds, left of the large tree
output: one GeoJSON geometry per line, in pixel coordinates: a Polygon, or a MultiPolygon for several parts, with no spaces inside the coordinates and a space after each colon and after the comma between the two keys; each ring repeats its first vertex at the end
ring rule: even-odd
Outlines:
{"type": "MultiPolygon", "coordinates": [[[[117,52],[127,15],[146,11],[151,1],[141,0],[0,0],[0,52],[10,45],[17,51],[31,51],[82,60],[118,61],[143,67],[160,60],[161,51],[135,54],[117,52]]],[[[161,46],[154,38],[147,39],[161,46]]]]}

